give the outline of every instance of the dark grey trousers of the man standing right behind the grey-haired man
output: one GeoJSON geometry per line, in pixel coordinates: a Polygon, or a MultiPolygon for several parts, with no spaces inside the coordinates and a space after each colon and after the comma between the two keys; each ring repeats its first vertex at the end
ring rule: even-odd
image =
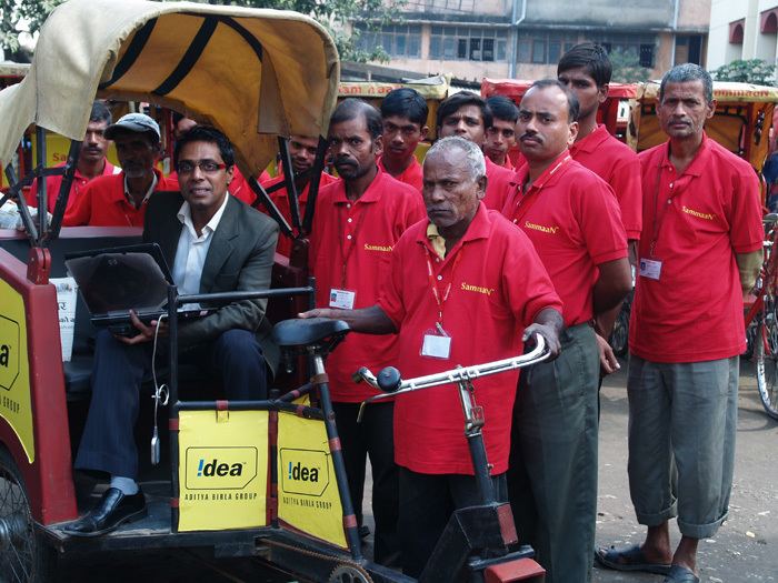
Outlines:
{"type": "Polygon", "coordinates": [[[508,493],[519,539],[547,583],[591,580],[597,519],[599,353],[588,324],[565,330],[552,362],[521,371],[508,493]]]}

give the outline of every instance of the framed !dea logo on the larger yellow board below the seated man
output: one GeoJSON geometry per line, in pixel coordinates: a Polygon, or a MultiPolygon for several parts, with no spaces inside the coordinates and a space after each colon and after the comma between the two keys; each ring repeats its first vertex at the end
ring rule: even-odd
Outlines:
{"type": "Polygon", "coordinates": [[[242,490],[257,476],[257,448],[188,448],[188,490],[242,490]]]}

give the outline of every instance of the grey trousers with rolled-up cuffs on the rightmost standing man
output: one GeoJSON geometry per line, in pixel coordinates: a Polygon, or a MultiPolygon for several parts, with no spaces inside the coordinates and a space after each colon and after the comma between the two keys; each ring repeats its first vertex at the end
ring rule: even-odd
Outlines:
{"type": "Polygon", "coordinates": [[[739,358],[629,362],[629,490],[638,522],[678,516],[707,539],[727,517],[735,465],[739,358]]]}

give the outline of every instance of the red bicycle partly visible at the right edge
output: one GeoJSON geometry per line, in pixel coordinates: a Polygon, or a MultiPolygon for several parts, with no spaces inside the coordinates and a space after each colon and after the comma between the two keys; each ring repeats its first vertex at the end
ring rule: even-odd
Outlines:
{"type": "Polygon", "coordinates": [[[746,313],[746,339],[747,354],[750,353],[756,362],[759,399],[767,414],[778,420],[778,253],[774,253],[778,235],[776,223],[776,213],[769,213],[762,219],[765,259],[754,291],[756,300],[746,313]]]}

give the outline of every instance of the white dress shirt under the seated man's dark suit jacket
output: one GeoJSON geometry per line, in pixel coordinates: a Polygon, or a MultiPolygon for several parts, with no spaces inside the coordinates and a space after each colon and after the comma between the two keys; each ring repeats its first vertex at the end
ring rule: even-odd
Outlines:
{"type": "Polygon", "coordinates": [[[184,201],[178,211],[178,220],[181,221],[183,228],[181,235],[178,238],[178,248],[176,249],[176,260],[173,261],[173,281],[178,285],[178,293],[181,295],[190,295],[200,293],[200,278],[202,268],[206,264],[208,249],[213,240],[213,232],[221,221],[221,215],[225,214],[227,200],[211,217],[206,227],[202,228],[202,234],[198,237],[192,223],[192,213],[189,203],[184,201]]]}

